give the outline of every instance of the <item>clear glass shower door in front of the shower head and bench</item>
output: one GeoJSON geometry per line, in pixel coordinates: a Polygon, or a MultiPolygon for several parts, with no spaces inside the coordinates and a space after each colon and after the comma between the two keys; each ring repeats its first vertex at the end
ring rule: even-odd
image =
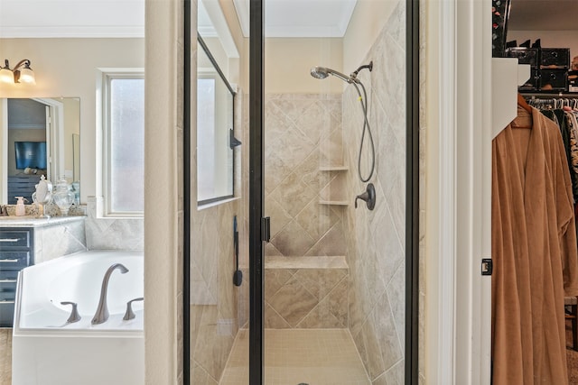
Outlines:
{"type": "Polygon", "coordinates": [[[263,6],[264,383],[411,383],[408,5],[263,6]]]}

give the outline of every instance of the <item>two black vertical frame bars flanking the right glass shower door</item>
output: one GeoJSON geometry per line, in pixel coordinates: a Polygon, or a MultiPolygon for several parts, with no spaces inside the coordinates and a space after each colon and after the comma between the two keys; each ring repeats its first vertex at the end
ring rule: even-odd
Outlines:
{"type": "MultiPolygon", "coordinates": [[[[249,384],[264,362],[264,34],[263,0],[249,10],[249,384]]],[[[406,385],[418,383],[419,353],[419,0],[406,0],[406,385]]]]}

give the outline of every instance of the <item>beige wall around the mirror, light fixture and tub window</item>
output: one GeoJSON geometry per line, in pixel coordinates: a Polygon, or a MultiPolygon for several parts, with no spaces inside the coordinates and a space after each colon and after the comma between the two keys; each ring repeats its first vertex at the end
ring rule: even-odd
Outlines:
{"type": "MultiPolygon", "coordinates": [[[[0,97],[80,98],[80,200],[101,195],[97,69],[144,68],[144,39],[1,39],[0,57],[31,60],[36,85],[0,85],[0,97]]],[[[166,73],[166,70],[163,71],[166,73]]]]}

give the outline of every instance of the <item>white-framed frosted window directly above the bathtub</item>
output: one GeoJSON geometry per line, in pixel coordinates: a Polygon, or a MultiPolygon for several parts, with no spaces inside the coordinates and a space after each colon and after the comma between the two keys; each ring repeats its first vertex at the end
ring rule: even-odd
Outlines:
{"type": "Polygon", "coordinates": [[[107,216],[144,213],[144,73],[103,71],[107,216]]]}

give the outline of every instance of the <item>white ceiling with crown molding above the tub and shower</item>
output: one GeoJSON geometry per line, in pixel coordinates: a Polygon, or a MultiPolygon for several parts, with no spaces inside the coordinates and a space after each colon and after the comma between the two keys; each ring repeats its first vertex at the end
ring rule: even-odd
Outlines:
{"type": "MultiPolygon", "coordinates": [[[[229,1],[248,36],[249,0],[229,1]]],[[[341,37],[356,2],[266,0],[266,36],[341,37]]],[[[143,36],[144,0],[0,0],[0,38],[143,36]]]]}

